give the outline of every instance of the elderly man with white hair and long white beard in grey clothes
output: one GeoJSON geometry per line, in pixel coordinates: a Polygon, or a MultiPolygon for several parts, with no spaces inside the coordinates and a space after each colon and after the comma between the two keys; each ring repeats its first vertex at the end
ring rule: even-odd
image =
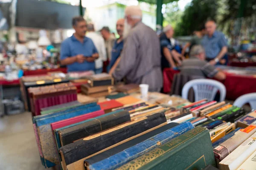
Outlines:
{"type": "Polygon", "coordinates": [[[160,42],[156,32],[141,20],[140,7],[125,8],[125,45],[113,77],[125,78],[126,83],[148,84],[149,91],[160,91],[163,86],[160,42]]]}

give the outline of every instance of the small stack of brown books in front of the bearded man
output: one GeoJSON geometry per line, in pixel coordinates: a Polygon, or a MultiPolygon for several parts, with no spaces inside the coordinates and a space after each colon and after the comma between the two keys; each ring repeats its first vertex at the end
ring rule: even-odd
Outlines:
{"type": "Polygon", "coordinates": [[[106,73],[87,76],[87,84],[81,85],[81,92],[91,97],[107,96],[113,89],[113,78],[106,73]]]}

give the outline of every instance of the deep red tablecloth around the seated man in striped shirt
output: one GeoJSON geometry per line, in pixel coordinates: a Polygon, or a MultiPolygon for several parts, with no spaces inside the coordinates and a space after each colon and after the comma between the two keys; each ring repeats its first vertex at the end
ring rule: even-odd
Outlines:
{"type": "MultiPolygon", "coordinates": [[[[172,80],[174,74],[179,71],[175,71],[166,68],[163,71],[163,91],[169,93],[172,87],[172,80]]],[[[222,81],[227,89],[226,99],[236,100],[239,96],[248,93],[256,92],[256,77],[253,76],[241,76],[236,74],[226,73],[227,78],[222,81]]]]}

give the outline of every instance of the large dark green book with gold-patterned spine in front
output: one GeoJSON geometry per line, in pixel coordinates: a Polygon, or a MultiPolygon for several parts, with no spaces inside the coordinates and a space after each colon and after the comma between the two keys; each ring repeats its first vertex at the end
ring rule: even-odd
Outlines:
{"type": "Polygon", "coordinates": [[[202,170],[216,166],[209,130],[195,127],[118,170],[202,170]]]}

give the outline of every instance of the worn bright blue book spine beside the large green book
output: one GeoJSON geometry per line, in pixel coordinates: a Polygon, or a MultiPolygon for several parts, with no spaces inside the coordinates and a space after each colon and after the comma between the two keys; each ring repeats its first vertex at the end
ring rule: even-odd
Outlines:
{"type": "MultiPolygon", "coordinates": [[[[123,164],[149,152],[150,150],[159,146],[159,144],[164,144],[169,142],[171,139],[180,136],[181,134],[193,129],[194,126],[190,122],[184,122],[177,125],[169,130],[153,136],[144,142],[134,145],[128,149],[123,150],[113,156],[103,159],[102,161],[96,162],[89,166],[90,170],[113,170],[123,164]]],[[[86,162],[86,160],[85,160],[86,162]]]]}

